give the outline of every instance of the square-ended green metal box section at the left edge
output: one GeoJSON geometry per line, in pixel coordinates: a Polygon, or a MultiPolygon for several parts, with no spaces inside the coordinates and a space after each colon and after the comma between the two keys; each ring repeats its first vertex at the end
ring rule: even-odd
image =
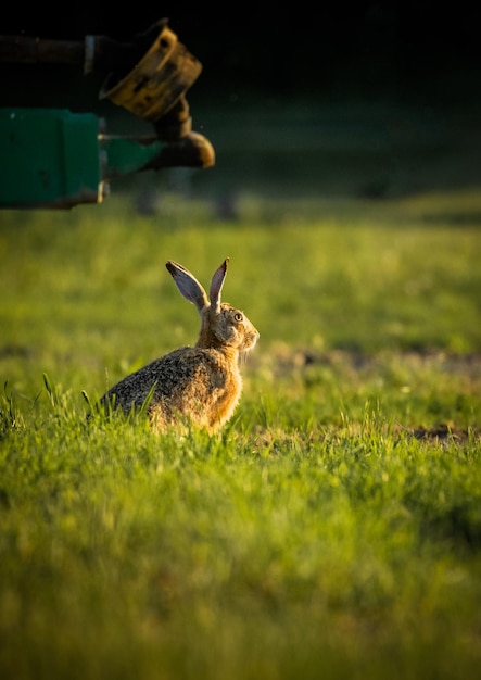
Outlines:
{"type": "Polygon", "coordinates": [[[0,207],[102,200],[99,121],[59,109],[0,110],[0,207]]]}

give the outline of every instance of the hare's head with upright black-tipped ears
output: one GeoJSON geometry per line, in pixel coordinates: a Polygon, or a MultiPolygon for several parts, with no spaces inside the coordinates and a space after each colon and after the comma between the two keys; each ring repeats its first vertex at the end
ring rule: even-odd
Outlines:
{"type": "Polygon", "coordinates": [[[165,265],[170,272],[180,293],[195,305],[201,317],[201,330],[197,347],[232,348],[240,352],[252,350],[258,332],[245,314],[226,302],[220,302],[220,292],[227,274],[226,259],[214,273],[210,295],[197,278],[182,265],[169,261],[165,265]]]}

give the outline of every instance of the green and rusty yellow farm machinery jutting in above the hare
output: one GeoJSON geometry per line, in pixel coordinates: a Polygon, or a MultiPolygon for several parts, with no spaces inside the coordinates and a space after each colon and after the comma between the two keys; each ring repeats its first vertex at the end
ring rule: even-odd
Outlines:
{"type": "Polygon", "coordinates": [[[0,108],[0,209],[100,203],[111,180],[123,175],[215,163],[210,141],[192,130],[186,99],[202,65],[167,20],[128,42],[90,35],[83,41],[3,35],[0,64],[62,64],[81,67],[84,75],[100,74],[99,99],[117,104],[148,129],[111,134],[107,117],[90,111],[0,108]]]}

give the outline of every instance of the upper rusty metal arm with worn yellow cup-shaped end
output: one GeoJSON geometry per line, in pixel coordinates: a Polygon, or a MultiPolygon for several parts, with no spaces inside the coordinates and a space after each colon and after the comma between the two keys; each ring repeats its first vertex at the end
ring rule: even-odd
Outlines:
{"type": "Polygon", "coordinates": [[[152,123],[159,139],[177,140],[191,133],[185,95],[202,64],[167,24],[160,20],[131,42],[106,36],[86,36],[83,42],[0,36],[0,63],[83,64],[85,74],[103,72],[100,99],[152,123]]]}

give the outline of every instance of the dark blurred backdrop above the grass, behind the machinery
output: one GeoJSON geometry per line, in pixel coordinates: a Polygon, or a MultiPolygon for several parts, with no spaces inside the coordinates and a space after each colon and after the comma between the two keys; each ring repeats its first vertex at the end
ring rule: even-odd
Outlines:
{"type": "MultiPolygon", "coordinates": [[[[17,4],[2,20],[3,34],[127,40],[165,16],[202,62],[188,101],[216,166],[135,176],[113,192],[148,194],[167,182],[216,197],[229,217],[250,193],[384,199],[480,185],[472,3],[145,4],[17,4]]],[[[79,68],[0,64],[0,76],[1,106],[93,111],[112,131],[139,123],[99,101],[102,77],[79,68]]]]}

